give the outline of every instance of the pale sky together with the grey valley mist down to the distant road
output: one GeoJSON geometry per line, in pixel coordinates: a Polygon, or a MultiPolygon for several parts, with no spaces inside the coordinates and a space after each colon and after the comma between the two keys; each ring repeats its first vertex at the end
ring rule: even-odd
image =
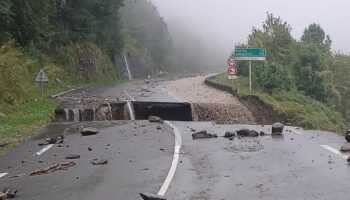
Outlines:
{"type": "Polygon", "coordinates": [[[172,36],[175,63],[185,70],[225,71],[226,59],[235,44],[247,43],[253,27],[261,28],[266,13],[281,17],[300,40],[312,23],[332,39],[332,52],[350,53],[350,2],[151,0],[167,23],[172,36]]]}

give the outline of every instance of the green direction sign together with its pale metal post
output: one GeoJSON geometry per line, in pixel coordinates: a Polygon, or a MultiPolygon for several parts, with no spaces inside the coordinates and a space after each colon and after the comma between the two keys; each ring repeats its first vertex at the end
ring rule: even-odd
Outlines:
{"type": "Polygon", "coordinates": [[[236,57],[236,60],[248,60],[249,61],[249,91],[252,91],[252,60],[264,61],[266,60],[265,48],[236,48],[232,52],[232,56],[236,57]]]}

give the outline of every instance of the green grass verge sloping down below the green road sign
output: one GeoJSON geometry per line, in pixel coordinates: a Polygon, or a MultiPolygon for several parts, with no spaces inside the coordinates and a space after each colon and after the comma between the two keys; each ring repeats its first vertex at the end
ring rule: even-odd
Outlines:
{"type": "MultiPolygon", "coordinates": [[[[224,85],[232,85],[226,74],[216,75],[212,81],[224,85]]],[[[238,89],[238,97],[254,96],[273,110],[288,124],[307,129],[317,129],[343,133],[346,130],[344,117],[326,104],[307,97],[297,91],[267,94],[259,89],[249,92],[249,81],[239,77],[233,81],[238,89]]]]}

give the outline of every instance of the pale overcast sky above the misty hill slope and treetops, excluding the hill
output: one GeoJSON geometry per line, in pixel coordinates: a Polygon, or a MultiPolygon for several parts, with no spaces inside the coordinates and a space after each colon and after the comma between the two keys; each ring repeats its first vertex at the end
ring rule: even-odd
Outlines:
{"type": "MultiPolygon", "coordinates": [[[[261,28],[266,12],[280,16],[300,39],[311,23],[333,40],[332,50],[350,54],[349,0],[151,0],[166,22],[183,21],[213,51],[228,55],[235,43],[246,43],[252,27],[261,28]]],[[[169,24],[171,26],[171,24],[169,24]]],[[[225,56],[226,56],[225,55],[225,56]]]]}

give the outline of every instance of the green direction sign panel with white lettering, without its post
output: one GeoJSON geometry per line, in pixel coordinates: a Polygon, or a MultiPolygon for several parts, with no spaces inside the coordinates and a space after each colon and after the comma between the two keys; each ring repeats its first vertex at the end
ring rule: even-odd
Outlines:
{"type": "Polygon", "coordinates": [[[236,60],[265,60],[265,48],[236,48],[232,55],[236,60]]]}

